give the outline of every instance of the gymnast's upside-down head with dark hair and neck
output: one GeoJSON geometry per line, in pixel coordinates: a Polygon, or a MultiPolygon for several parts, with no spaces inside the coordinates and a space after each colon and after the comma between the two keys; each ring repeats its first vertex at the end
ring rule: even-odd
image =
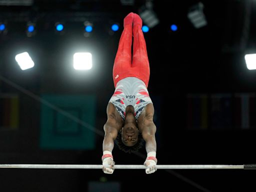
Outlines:
{"type": "Polygon", "coordinates": [[[126,112],[123,126],[118,131],[116,144],[124,152],[135,152],[143,145],[143,138],[137,128],[134,112],[126,112]]]}

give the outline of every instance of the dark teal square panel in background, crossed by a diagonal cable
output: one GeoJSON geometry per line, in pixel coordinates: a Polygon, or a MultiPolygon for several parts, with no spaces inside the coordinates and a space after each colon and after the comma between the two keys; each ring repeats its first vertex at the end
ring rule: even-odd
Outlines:
{"type": "Polygon", "coordinates": [[[94,95],[43,94],[42,99],[65,111],[41,104],[40,147],[45,149],[94,149],[95,133],[72,116],[95,127],[94,95]],[[71,118],[70,118],[71,116],[71,118]]]}

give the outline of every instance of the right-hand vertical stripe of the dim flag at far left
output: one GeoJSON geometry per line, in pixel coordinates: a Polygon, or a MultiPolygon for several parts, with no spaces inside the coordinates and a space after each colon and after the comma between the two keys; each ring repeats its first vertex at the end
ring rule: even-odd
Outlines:
{"type": "Polygon", "coordinates": [[[19,99],[18,96],[10,98],[10,122],[9,127],[16,129],[19,123],[19,99]]]}

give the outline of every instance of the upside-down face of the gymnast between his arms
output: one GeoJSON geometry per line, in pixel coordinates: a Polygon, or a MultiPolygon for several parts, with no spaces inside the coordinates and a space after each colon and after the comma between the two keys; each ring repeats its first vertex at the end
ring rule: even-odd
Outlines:
{"type": "Polygon", "coordinates": [[[122,142],[126,146],[133,146],[138,141],[138,129],[136,123],[128,122],[122,127],[122,142]]]}

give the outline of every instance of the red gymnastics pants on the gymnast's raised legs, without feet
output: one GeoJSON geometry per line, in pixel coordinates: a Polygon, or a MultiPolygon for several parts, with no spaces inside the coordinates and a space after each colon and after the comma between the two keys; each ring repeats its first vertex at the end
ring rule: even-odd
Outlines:
{"type": "Polygon", "coordinates": [[[144,81],[146,87],[149,80],[149,62],[146,43],[141,25],[126,25],[122,31],[113,65],[114,87],[125,77],[137,77],[144,81]],[[133,55],[131,61],[131,42],[133,35],[133,55]]]}

